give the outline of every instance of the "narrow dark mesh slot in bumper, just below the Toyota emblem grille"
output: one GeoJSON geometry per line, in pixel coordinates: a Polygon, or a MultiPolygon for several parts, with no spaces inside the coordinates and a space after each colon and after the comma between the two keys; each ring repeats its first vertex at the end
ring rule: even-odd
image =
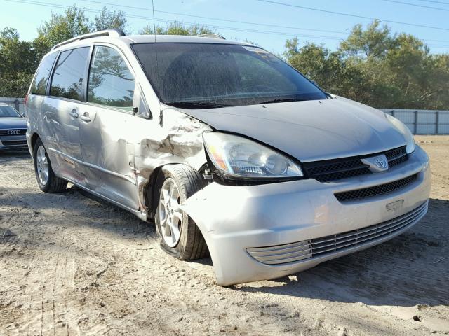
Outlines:
{"type": "Polygon", "coordinates": [[[401,189],[405,186],[408,186],[410,183],[412,183],[417,179],[417,176],[418,174],[413,174],[406,177],[405,179],[380,184],[379,186],[349,190],[344,191],[342,193],[335,193],[334,195],[335,197],[337,197],[337,200],[339,201],[360,200],[361,198],[371,197],[375,195],[383,195],[401,189]]]}

